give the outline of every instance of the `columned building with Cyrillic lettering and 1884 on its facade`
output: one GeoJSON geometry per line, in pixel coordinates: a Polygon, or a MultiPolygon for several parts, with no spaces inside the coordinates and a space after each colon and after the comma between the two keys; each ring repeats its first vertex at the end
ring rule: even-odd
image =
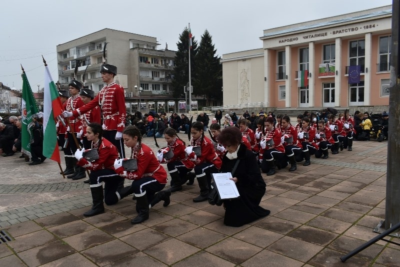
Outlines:
{"type": "Polygon", "coordinates": [[[388,106],[390,35],[391,6],[264,30],[262,49],[222,55],[224,104],[388,106]]]}

